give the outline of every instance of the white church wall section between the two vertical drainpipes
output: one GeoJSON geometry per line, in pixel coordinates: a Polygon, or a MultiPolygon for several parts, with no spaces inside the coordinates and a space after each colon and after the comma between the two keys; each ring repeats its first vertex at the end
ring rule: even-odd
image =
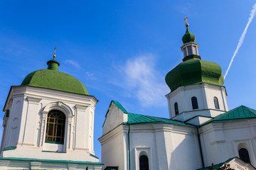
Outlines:
{"type": "Polygon", "coordinates": [[[170,124],[131,125],[131,168],[139,166],[137,150],[149,153],[149,169],[198,169],[201,156],[193,128],[170,124]],[[183,164],[183,162],[186,164],[183,164]]]}

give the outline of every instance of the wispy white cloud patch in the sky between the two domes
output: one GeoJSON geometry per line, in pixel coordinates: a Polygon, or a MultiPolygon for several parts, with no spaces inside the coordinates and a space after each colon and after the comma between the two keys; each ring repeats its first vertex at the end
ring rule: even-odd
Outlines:
{"type": "Polygon", "coordinates": [[[165,84],[164,75],[155,69],[153,55],[141,55],[127,60],[120,70],[122,81],[114,84],[122,86],[127,94],[137,98],[142,106],[166,105],[165,95],[169,89],[165,84]]]}

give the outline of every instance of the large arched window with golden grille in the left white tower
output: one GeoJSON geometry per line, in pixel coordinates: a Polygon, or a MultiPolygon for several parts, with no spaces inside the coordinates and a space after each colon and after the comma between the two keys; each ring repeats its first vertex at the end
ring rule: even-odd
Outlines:
{"type": "Polygon", "coordinates": [[[58,110],[49,111],[46,125],[46,142],[64,143],[65,114],[58,110]]]}

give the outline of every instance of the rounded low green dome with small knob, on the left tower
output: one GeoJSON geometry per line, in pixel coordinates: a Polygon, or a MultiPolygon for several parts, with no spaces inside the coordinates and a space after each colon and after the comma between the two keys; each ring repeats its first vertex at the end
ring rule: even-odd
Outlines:
{"type": "Polygon", "coordinates": [[[47,64],[48,69],[39,69],[35,72],[31,72],[25,77],[21,85],[89,95],[85,85],[82,84],[81,81],[70,74],[58,72],[59,62],[50,60],[47,64]]]}

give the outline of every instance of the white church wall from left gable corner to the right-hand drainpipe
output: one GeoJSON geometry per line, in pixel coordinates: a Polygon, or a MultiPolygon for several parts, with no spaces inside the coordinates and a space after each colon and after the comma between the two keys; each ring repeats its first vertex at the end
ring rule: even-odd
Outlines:
{"type": "MultiPolygon", "coordinates": [[[[100,137],[102,163],[128,169],[129,125],[119,125],[100,137]],[[124,130],[122,132],[122,130],[124,130]]],[[[201,155],[194,128],[170,124],[130,125],[131,169],[139,167],[139,153],[146,152],[149,169],[198,169],[201,155]],[[184,164],[186,162],[186,164],[184,164]]]]}

